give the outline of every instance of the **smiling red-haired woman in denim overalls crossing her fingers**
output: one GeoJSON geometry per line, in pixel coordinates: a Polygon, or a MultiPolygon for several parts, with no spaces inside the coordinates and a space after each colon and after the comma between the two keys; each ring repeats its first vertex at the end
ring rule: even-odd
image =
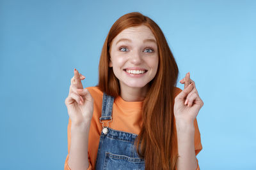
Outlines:
{"type": "Polygon", "coordinates": [[[141,13],[111,27],[102,48],[99,85],[83,89],[74,70],[65,104],[67,169],[199,169],[196,122],[203,101],[178,67],[163,32],[141,13]]]}

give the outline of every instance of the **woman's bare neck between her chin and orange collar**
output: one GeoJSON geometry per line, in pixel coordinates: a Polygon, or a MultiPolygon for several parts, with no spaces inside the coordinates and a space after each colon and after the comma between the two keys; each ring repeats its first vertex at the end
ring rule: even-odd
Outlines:
{"type": "Polygon", "coordinates": [[[121,97],[124,101],[144,101],[147,96],[148,86],[145,87],[120,87],[121,97]]]}

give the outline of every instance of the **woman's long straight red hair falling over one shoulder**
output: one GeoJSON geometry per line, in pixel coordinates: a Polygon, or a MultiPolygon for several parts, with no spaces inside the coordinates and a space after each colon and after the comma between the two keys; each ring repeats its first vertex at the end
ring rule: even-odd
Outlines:
{"type": "Polygon", "coordinates": [[[109,49],[113,39],[124,29],[146,25],[157,40],[159,66],[150,81],[143,102],[143,127],[136,139],[137,151],[145,160],[145,169],[176,169],[178,148],[173,104],[179,69],[160,27],[138,12],[118,18],[104,42],[99,62],[99,88],[110,96],[120,95],[120,85],[109,67],[109,49]]]}

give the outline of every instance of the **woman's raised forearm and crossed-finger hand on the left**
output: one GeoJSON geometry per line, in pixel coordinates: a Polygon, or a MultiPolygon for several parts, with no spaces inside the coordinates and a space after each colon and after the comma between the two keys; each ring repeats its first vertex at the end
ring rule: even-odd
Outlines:
{"type": "Polygon", "coordinates": [[[81,80],[84,78],[74,69],[74,77],[71,79],[68,97],[65,99],[70,118],[65,170],[85,170],[90,165],[88,161],[88,136],[93,114],[93,98],[87,89],[83,89],[81,80]]]}

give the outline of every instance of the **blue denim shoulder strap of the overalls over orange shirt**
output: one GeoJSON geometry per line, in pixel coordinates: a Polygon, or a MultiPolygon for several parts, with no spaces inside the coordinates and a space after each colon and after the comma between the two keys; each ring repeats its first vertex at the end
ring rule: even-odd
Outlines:
{"type": "MultiPolygon", "coordinates": [[[[105,92],[102,99],[102,111],[100,120],[112,120],[112,109],[115,97],[108,96],[105,92]]],[[[101,122],[101,121],[100,121],[101,122]]]]}

